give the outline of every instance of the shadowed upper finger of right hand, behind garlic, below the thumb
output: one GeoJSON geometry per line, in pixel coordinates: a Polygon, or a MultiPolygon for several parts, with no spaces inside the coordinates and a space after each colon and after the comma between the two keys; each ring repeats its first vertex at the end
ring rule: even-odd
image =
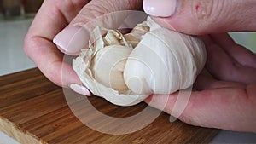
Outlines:
{"type": "Polygon", "coordinates": [[[253,84],[256,82],[255,68],[242,65],[225,51],[220,46],[221,44],[215,43],[212,37],[206,36],[203,37],[203,40],[207,48],[206,68],[214,78],[243,84],[253,84]]]}

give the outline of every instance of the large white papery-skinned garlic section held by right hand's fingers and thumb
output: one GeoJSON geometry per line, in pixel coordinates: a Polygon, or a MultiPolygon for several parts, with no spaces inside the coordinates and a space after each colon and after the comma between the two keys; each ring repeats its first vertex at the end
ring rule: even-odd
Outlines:
{"type": "Polygon", "coordinates": [[[138,95],[172,94],[187,89],[206,63],[197,37],[157,28],[146,33],[125,65],[125,84],[138,95]]]}

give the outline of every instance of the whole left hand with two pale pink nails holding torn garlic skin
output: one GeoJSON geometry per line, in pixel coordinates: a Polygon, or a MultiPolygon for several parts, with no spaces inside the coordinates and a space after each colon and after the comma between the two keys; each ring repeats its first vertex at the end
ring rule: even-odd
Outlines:
{"type": "Polygon", "coordinates": [[[87,46],[88,33],[81,26],[90,20],[118,10],[141,10],[142,3],[142,0],[44,1],[26,35],[25,53],[53,83],[90,95],[70,63],[63,61],[64,54],[79,55],[80,49],[87,46]]]}

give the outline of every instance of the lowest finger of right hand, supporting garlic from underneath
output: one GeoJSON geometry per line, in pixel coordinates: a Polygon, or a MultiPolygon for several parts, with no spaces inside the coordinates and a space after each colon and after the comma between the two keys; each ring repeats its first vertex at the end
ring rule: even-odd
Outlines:
{"type": "MultiPolygon", "coordinates": [[[[256,85],[247,89],[208,89],[192,92],[189,103],[179,117],[185,123],[224,130],[256,131],[256,85]]],[[[164,111],[172,113],[178,95],[169,95],[164,111]]],[[[162,107],[166,95],[155,95],[146,102],[155,108],[162,107]]]]}

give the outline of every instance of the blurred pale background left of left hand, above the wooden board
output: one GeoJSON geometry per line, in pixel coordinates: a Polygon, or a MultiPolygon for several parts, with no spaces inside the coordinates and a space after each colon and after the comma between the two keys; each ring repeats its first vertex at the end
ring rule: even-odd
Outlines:
{"type": "Polygon", "coordinates": [[[35,67],[23,39],[44,0],[0,0],[0,76],[35,67]]]}

